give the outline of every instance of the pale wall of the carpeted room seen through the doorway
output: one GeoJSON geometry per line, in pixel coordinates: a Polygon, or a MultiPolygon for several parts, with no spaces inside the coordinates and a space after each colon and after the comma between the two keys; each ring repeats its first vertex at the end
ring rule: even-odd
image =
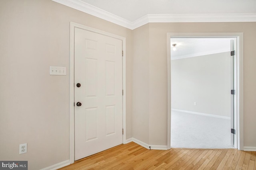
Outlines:
{"type": "Polygon", "coordinates": [[[230,117],[230,52],[172,60],[171,83],[172,109],[230,117]]]}

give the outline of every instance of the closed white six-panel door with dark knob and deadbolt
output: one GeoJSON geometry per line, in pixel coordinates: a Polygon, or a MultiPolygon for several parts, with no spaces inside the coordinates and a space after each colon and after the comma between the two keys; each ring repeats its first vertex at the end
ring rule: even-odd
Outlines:
{"type": "Polygon", "coordinates": [[[74,49],[78,160],[122,144],[122,41],[75,28],[74,49]]]}

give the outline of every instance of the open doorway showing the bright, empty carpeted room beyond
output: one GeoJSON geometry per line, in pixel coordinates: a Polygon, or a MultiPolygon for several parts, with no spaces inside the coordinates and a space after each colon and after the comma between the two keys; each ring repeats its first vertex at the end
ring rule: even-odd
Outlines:
{"type": "Polygon", "coordinates": [[[242,35],[206,34],[168,34],[169,147],[241,149],[242,35]]]}

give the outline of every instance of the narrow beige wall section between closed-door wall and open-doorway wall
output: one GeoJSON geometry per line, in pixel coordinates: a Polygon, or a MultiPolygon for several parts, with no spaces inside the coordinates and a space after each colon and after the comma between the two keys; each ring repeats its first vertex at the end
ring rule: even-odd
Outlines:
{"type": "Polygon", "coordinates": [[[149,143],[149,27],[133,30],[132,135],[149,143]]]}

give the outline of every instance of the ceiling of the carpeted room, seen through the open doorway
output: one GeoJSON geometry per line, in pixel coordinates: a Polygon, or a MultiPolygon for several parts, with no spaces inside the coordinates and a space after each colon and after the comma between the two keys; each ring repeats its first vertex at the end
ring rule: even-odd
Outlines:
{"type": "Polygon", "coordinates": [[[171,38],[171,60],[230,51],[232,38],[171,38]],[[172,44],[176,45],[173,51],[172,44]]]}

